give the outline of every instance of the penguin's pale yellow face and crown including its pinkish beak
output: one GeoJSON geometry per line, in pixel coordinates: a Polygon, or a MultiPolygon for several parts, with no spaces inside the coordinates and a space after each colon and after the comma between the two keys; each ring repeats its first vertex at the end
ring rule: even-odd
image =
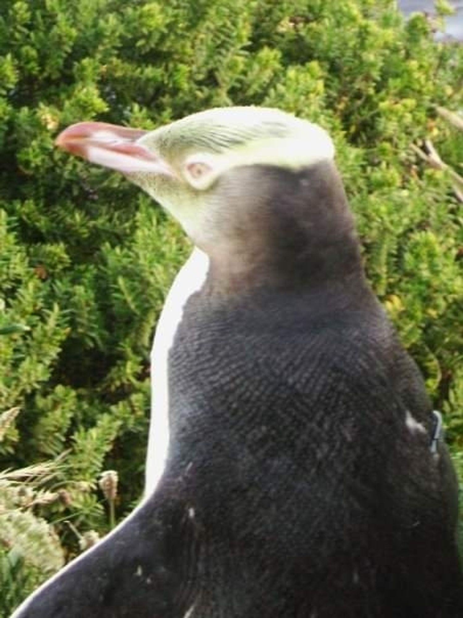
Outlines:
{"type": "Polygon", "coordinates": [[[318,125],[258,107],[209,109],[153,131],[80,122],[60,133],[56,145],[122,172],[206,252],[238,218],[243,226],[254,193],[269,192],[250,170],[296,172],[334,157],[333,142],[318,125]]]}

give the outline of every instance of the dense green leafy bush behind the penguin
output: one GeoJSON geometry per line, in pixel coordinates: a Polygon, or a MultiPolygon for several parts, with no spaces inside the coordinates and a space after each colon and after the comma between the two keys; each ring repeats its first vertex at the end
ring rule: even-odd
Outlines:
{"type": "Polygon", "coordinates": [[[369,279],[463,470],[461,203],[448,172],[411,149],[431,138],[461,169],[462,134],[436,105],[461,109],[463,51],[433,43],[433,24],[404,23],[394,4],[2,0],[0,329],[29,329],[0,334],[0,470],[60,457],[45,475],[0,478],[4,616],[85,533],[107,530],[102,470],[119,472],[118,517],[140,496],[152,332],[189,250],[121,176],[54,148],[73,122],[149,129],[258,104],[328,129],[369,279]],[[45,543],[54,549],[38,572],[45,543]]]}

